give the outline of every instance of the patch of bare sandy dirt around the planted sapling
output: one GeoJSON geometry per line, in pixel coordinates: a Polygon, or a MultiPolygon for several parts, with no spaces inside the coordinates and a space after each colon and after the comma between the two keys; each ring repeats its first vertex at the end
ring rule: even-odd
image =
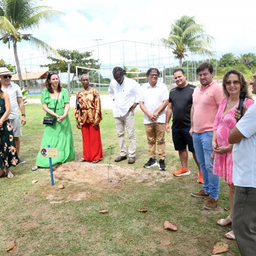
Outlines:
{"type": "Polygon", "coordinates": [[[50,204],[61,204],[89,199],[109,189],[120,189],[127,181],[154,186],[172,179],[172,173],[159,170],[132,170],[113,164],[68,162],[56,168],[56,186],[47,186],[44,194],[50,204]],[[64,184],[65,188],[58,189],[60,184],[64,184]]]}

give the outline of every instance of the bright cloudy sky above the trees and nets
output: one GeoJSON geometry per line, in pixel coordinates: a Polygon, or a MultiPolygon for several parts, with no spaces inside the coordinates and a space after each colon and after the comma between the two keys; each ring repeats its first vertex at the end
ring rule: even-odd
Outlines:
{"type": "MultiPolygon", "coordinates": [[[[196,22],[204,25],[205,32],[214,36],[212,51],[218,58],[227,52],[236,56],[246,52],[256,53],[254,1],[43,0],[40,4],[63,12],[60,17],[32,31],[34,36],[55,49],[90,49],[97,58],[95,39],[99,38],[103,39],[99,44],[119,40],[159,44],[159,38],[168,37],[174,20],[189,15],[195,16],[196,22]]],[[[37,56],[44,55],[31,49],[29,44],[19,44],[18,47],[20,60],[31,58],[35,63],[37,56]]],[[[106,54],[103,53],[106,51],[100,46],[101,63],[104,63],[106,54]]],[[[132,48],[125,54],[130,54],[129,51],[132,48]]],[[[138,54],[141,51],[143,49],[138,50],[138,54]]],[[[7,45],[0,44],[0,52],[0,58],[13,61],[12,48],[8,50],[7,45]]],[[[122,62],[122,52],[117,49],[116,52],[116,60],[122,62]]],[[[115,47],[111,49],[111,55],[115,57],[115,47]]],[[[157,53],[150,52],[148,55],[156,58],[157,53]]]]}

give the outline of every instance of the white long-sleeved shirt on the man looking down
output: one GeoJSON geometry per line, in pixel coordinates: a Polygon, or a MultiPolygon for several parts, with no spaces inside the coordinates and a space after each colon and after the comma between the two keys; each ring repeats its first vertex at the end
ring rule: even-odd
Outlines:
{"type": "Polygon", "coordinates": [[[108,88],[109,95],[114,100],[113,116],[121,117],[127,114],[134,103],[139,103],[140,84],[131,78],[124,77],[123,83],[118,84],[111,80],[108,88]]]}

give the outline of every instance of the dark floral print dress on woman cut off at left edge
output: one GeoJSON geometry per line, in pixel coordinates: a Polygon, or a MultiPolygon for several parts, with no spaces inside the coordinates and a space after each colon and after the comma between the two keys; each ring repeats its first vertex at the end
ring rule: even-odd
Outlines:
{"type": "MultiPolygon", "coordinates": [[[[5,112],[4,99],[0,97],[0,118],[5,112]]],[[[0,127],[0,168],[8,169],[19,163],[19,157],[15,148],[12,125],[9,119],[5,120],[3,127],[0,127]]]]}

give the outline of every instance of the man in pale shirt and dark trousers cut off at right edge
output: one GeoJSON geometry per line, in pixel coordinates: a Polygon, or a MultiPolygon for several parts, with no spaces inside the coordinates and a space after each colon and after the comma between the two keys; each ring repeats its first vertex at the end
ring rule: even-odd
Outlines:
{"type": "MultiPolygon", "coordinates": [[[[252,93],[256,94],[256,72],[251,81],[252,93]]],[[[236,116],[237,117],[237,116],[236,116]]],[[[232,228],[241,255],[256,252],[256,104],[230,131],[228,142],[234,144],[233,176],[236,187],[232,228]]]]}

